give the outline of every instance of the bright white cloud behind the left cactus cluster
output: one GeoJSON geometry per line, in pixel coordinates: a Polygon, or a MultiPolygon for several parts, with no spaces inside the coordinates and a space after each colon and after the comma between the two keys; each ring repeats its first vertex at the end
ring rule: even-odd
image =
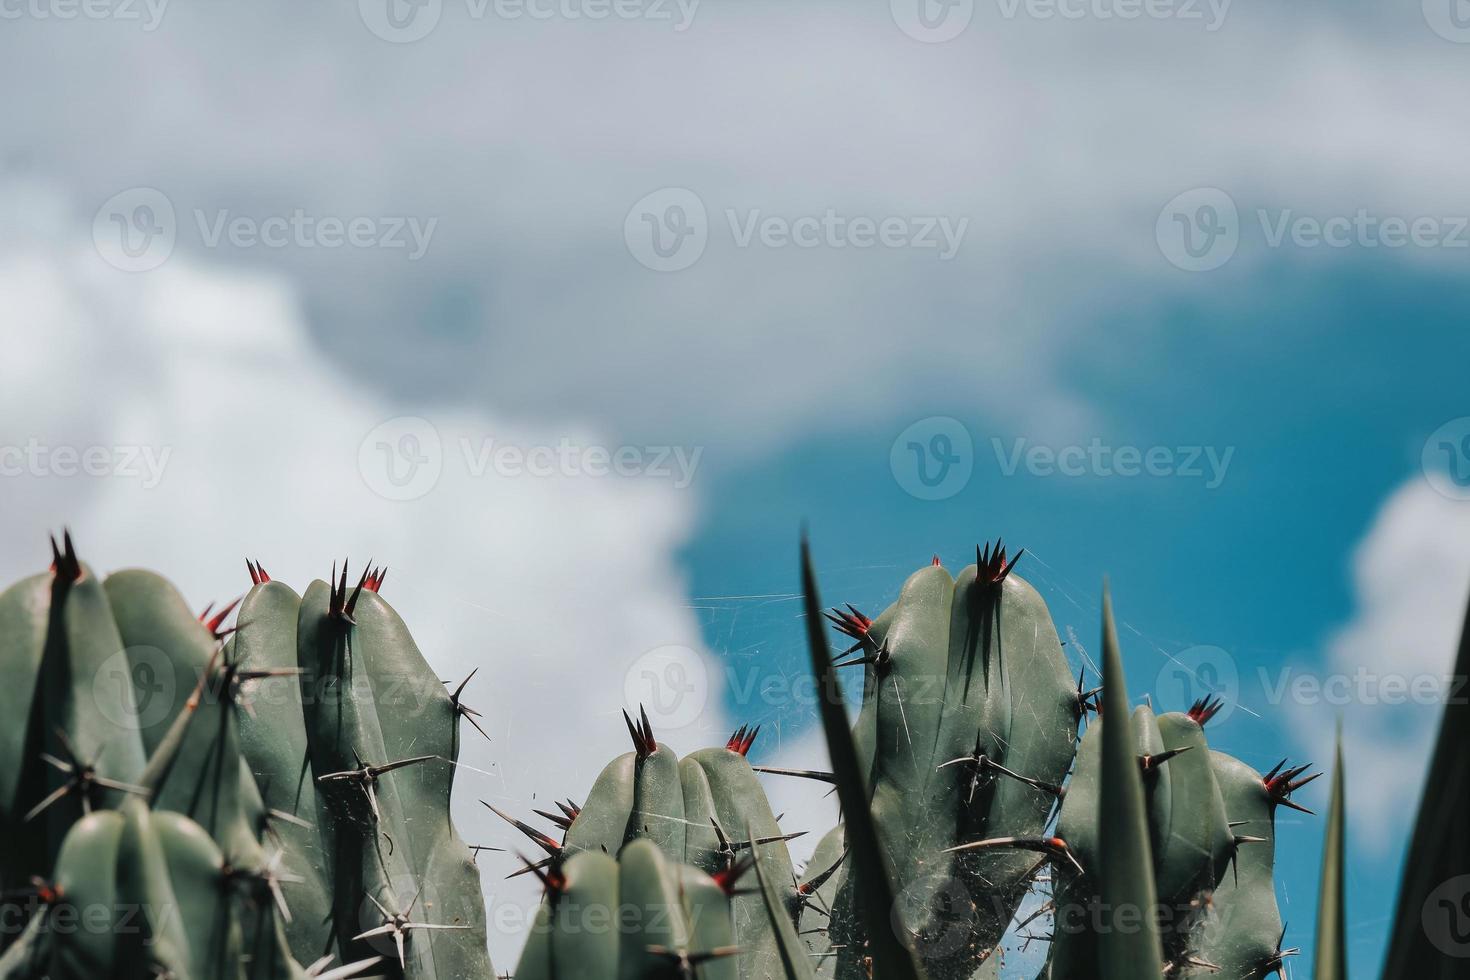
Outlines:
{"type": "MultiPolygon", "coordinates": [[[[38,194],[28,188],[28,194],[38,194]]],[[[0,188],[0,200],[6,197],[0,188]]],[[[456,441],[520,445],[551,430],[473,411],[429,414],[447,448],[438,486],[392,502],[359,472],[363,436],[406,408],[347,378],[306,338],[298,301],[275,275],[171,262],[125,275],[65,235],[0,241],[0,444],[168,451],[163,480],[26,473],[3,480],[0,577],[46,566],[46,532],[69,525],[103,572],[144,566],[194,607],[248,588],[244,558],[298,591],[351,554],[387,563],[385,598],[444,677],[473,667],[467,702],[492,742],[466,729],[456,817],[476,843],[525,849],[478,804],[529,815],[582,795],[625,751],[625,671],[644,651],[703,651],[673,561],[694,502],[657,479],[473,478],[456,441]],[[539,802],[537,802],[539,801],[539,802]]],[[[704,652],[691,654],[703,658],[704,652]]],[[[719,671],[681,751],[723,738],[719,671]]],[[[507,855],[481,857],[487,895],[531,907],[532,879],[501,882],[507,855]]],[[[492,918],[492,923],[497,921],[492,918]]],[[[497,967],[522,936],[491,932],[497,967]]]]}

